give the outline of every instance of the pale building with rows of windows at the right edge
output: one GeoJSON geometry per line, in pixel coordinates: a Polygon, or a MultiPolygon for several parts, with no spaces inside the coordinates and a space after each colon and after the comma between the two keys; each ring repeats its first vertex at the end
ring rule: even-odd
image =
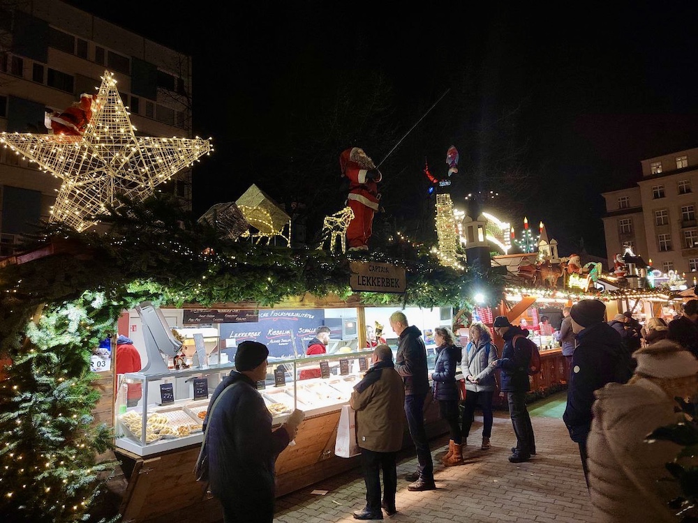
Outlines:
{"type": "Polygon", "coordinates": [[[602,193],[604,233],[613,267],[629,243],[664,273],[698,276],[698,148],[641,161],[637,186],[602,193]]]}

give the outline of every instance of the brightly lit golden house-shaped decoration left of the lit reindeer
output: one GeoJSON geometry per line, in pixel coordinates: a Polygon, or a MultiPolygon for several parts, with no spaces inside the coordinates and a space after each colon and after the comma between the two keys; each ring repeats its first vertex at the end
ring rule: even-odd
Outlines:
{"type": "Polygon", "coordinates": [[[265,192],[254,183],[235,202],[240,212],[248,223],[257,229],[253,234],[243,234],[243,237],[257,238],[255,243],[260,243],[262,238],[267,238],[267,245],[274,236],[280,236],[286,241],[286,246],[291,244],[291,218],[279,207],[265,192]],[[283,234],[288,226],[288,234],[283,234]]]}

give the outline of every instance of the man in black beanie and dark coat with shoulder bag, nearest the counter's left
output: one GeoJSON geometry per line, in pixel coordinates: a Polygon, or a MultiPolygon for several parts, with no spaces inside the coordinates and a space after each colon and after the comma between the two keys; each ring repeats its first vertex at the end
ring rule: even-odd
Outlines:
{"type": "Polygon", "coordinates": [[[295,437],[302,419],[294,413],[292,420],[272,432],[272,414],[255,388],[267,377],[268,355],[261,343],[239,344],[237,370],[216,387],[204,420],[204,430],[210,425],[206,443],[210,488],[223,505],[225,523],[274,520],[274,462],[295,437]]]}

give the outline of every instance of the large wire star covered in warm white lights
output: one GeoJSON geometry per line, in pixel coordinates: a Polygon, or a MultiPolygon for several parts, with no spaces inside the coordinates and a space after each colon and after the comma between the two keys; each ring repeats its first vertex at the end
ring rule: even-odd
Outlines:
{"type": "Polygon", "coordinates": [[[0,135],[0,143],[63,180],[52,222],[88,229],[117,196],[142,202],[156,185],[213,149],[209,140],[136,137],[112,73],[104,72],[87,128],[80,136],[0,135]],[[96,107],[95,107],[96,105],[96,107]]]}

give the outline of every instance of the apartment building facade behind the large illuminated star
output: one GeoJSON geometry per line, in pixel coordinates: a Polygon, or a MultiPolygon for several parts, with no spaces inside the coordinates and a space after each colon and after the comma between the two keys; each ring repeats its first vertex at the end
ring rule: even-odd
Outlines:
{"type": "MultiPolygon", "coordinates": [[[[0,3],[0,132],[49,133],[47,112],[95,93],[114,73],[136,135],[191,137],[191,56],[60,0],[0,3]]],[[[0,148],[0,256],[48,220],[61,180],[0,148]]],[[[191,209],[191,169],[158,189],[191,209]]]]}

